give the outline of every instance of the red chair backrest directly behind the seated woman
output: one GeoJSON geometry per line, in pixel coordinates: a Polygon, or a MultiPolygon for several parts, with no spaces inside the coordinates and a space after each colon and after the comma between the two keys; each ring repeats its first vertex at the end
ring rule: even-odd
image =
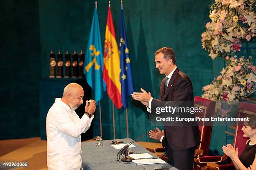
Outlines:
{"type": "MultiPolygon", "coordinates": [[[[256,104],[248,103],[248,102],[240,102],[239,104],[239,112],[238,117],[248,117],[248,115],[256,115],[256,104]]],[[[238,148],[238,157],[243,152],[246,141],[249,138],[243,137],[243,122],[236,122],[236,132],[234,138],[234,148],[238,148]]]]}

